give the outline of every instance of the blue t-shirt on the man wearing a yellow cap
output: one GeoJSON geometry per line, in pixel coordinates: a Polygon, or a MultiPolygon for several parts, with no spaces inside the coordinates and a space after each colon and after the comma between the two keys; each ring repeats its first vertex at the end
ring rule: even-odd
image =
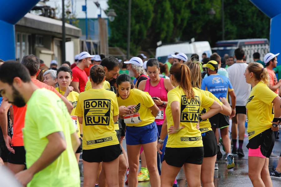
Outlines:
{"type": "Polygon", "coordinates": [[[223,75],[212,74],[202,80],[202,90],[208,90],[217,98],[228,98],[228,92],[233,91],[233,87],[229,79],[223,75]]]}

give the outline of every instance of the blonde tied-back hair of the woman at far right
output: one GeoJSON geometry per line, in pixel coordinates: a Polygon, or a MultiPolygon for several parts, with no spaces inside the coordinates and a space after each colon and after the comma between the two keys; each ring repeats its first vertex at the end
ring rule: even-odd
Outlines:
{"type": "Polygon", "coordinates": [[[253,72],[257,80],[263,81],[266,85],[269,85],[268,71],[260,63],[258,62],[249,63],[247,69],[249,72],[253,72]]]}

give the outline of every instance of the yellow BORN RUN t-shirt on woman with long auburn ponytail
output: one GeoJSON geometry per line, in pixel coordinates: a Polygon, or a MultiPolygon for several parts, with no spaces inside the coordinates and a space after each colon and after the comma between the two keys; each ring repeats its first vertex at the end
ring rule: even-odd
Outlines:
{"type": "Polygon", "coordinates": [[[214,99],[197,89],[193,88],[193,91],[195,93],[195,98],[191,99],[186,98],[184,90],[179,86],[170,90],[167,94],[167,129],[169,129],[170,126],[174,126],[171,111],[171,103],[174,101],[180,103],[180,126],[184,126],[185,128],[175,134],[169,134],[166,147],[180,148],[203,146],[201,132],[196,128],[200,116],[200,107],[209,108],[214,103],[214,99]]]}

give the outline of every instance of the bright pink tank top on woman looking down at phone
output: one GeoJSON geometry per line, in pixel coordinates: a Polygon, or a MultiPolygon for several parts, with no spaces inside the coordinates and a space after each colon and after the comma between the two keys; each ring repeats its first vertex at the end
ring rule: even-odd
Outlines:
{"type": "MultiPolygon", "coordinates": [[[[158,97],[161,99],[161,101],[165,101],[166,105],[165,105],[165,107],[163,107],[163,109],[164,109],[163,119],[155,119],[155,122],[157,125],[162,125],[165,120],[165,117],[166,117],[165,109],[166,109],[166,106],[168,103],[168,98],[167,98],[168,92],[164,86],[164,78],[161,77],[159,83],[156,86],[152,86],[150,84],[150,79],[147,79],[146,83],[145,83],[144,91],[148,92],[151,97],[158,97]]],[[[157,107],[162,107],[162,106],[157,105],[157,107]]]]}

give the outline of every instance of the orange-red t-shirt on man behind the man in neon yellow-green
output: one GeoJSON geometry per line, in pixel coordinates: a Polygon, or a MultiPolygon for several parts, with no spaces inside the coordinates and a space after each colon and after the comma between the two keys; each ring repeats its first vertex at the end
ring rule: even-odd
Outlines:
{"type": "MultiPolygon", "coordinates": [[[[62,95],[60,93],[58,93],[54,87],[49,86],[45,83],[42,83],[37,79],[31,78],[31,80],[38,88],[46,88],[48,90],[55,92],[59,97],[62,97],[62,95]]],[[[27,105],[25,105],[24,107],[17,107],[15,105],[12,105],[12,106],[13,106],[13,110],[14,110],[12,144],[13,144],[13,146],[24,146],[23,138],[22,138],[22,128],[24,127],[25,112],[26,112],[27,105]]]]}

